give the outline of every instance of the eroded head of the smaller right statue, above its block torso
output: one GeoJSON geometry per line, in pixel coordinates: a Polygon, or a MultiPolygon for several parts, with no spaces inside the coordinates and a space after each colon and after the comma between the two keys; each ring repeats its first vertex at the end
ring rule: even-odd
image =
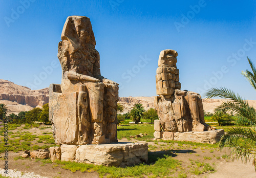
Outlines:
{"type": "Polygon", "coordinates": [[[163,50],[161,51],[158,59],[158,66],[167,66],[177,68],[178,53],[175,50],[163,50]]]}

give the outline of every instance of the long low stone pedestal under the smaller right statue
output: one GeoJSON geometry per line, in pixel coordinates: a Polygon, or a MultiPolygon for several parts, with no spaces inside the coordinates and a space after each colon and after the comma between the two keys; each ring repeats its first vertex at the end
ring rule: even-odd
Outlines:
{"type": "Polygon", "coordinates": [[[215,144],[220,141],[222,135],[224,135],[223,129],[187,132],[155,131],[154,140],[162,139],[215,144]]]}

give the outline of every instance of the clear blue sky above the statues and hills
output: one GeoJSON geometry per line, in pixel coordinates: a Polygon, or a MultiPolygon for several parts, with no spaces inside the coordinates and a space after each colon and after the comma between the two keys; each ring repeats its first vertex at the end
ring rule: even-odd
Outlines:
{"type": "Polygon", "coordinates": [[[182,90],[203,96],[209,85],[225,86],[256,100],[241,76],[246,56],[256,62],[255,1],[0,3],[1,79],[33,90],[60,83],[60,34],[68,16],[82,15],[91,18],[101,74],[121,84],[120,97],[155,96],[159,53],[173,49],[182,90]]]}

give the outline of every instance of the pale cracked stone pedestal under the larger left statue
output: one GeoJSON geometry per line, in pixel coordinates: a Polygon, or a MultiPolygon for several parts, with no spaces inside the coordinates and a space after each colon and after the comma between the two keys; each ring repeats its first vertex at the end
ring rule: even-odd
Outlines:
{"type": "Polygon", "coordinates": [[[147,143],[61,145],[61,161],[105,166],[132,166],[147,161],[147,143]]]}

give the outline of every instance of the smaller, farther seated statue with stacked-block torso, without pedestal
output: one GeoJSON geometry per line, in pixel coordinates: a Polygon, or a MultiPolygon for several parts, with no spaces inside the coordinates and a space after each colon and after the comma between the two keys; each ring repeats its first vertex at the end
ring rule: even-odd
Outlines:
{"type": "Polygon", "coordinates": [[[211,127],[204,122],[201,96],[194,92],[181,91],[178,53],[163,50],[158,60],[156,75],[157,94],[154,106],[164,131],[204,131],[211,127]]]}

